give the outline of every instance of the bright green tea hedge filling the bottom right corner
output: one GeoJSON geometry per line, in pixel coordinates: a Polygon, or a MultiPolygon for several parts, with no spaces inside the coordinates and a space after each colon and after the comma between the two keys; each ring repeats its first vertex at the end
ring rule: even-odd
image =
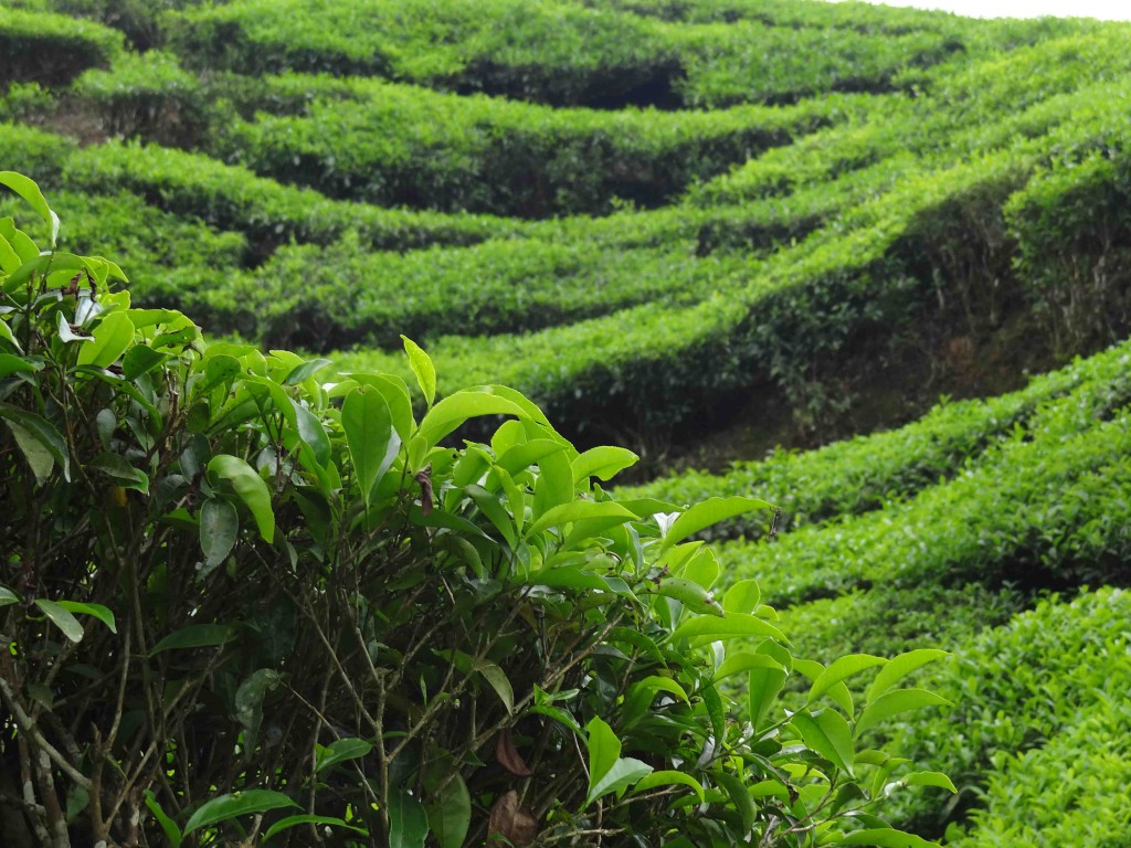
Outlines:
{"type": "Polygon", "coordinates": [[[1129,761],[1129,618],[1125,589],[1085,590],[958,642],[927,678],[955,707],[905,726],[899,742],[944,769],[959,795],[927,795],[905,815],[941,830],[953,806],[974,806],[955,840],[965,847],[1124,843],[1125,791],[1105,787],[1129,761]]]}

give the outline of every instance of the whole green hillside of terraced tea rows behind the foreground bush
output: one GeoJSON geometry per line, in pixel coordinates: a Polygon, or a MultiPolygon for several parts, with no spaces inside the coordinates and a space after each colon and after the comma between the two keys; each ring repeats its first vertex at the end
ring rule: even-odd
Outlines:
{"type": "Polygon", "coordinates": [[[955,708],[890,742],[959,793],[904,825],[1115,848],[1129,41],[821,0],[0,0],[0,170],[135,303],[411,378],[404,334],[440,395],[641,453],[622,494],[780,505],[776,542],[711,539],[798,656],[955,655],[923,673],[955,708]]]}

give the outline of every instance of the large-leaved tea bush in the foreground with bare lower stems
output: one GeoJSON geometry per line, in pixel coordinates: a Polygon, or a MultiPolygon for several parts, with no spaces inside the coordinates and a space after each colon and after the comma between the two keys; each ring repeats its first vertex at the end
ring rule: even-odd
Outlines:
{"type": "Polygon", "coordinates": [[[763,501],[614,501],[632,453],[504,387],[437,403],[411,341],[418,421],[396,377],[206,344],[0,235],[6,846],[925,845],[872,808],[949,780],[854,738],[942,703],[897,689],[941,651],[824,667],[752,581],[715,598],[685,539],[763,501]]]}

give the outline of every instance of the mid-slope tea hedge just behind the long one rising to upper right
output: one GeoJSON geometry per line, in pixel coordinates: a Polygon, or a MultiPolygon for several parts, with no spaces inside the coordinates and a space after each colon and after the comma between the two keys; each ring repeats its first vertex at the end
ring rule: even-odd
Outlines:
{"type": "Polygon", "coordinates": [[[446,332],[520,332],[661,300],[693,304],[734,260],[699,258],[693,242],[601,251],[527,239],[469,248],[373,253],[355,236],[282,246],[254,270],[199,293],[193,314],[265,345],[396,347],[446,332]]]}

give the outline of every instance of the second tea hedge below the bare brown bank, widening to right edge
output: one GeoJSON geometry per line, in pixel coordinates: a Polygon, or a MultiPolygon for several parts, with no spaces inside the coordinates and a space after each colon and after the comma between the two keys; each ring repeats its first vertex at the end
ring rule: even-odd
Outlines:
{"type": "Polygon", "coordinates": [[[772,600],[801,603],[895,581],[1026,587],[1128,581],[1131,417],[1124,380],[1106,405],[1062,405],[973,467],[915,497],[797,529],[778,545],[729,543],[719,560],[772,600]]]}

